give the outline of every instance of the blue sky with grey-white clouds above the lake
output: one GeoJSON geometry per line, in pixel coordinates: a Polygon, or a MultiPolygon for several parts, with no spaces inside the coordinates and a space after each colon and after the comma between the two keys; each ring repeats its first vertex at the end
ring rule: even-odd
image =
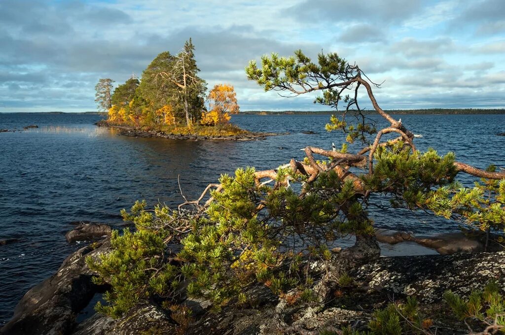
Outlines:
{"type": "Polygon", "coordinates": [[[245,76],[296,49],[358,64],[384,109],[505,107],[503,0],[0,0],[0,112],[96,110],[99,78],[141,76],[190,37],[200,77],[241,110],[325,109],[245,76]]]}

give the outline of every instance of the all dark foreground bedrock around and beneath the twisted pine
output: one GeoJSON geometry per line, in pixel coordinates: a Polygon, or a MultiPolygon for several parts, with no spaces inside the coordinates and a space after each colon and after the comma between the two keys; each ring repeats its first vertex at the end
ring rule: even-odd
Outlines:
{"type": "MultiPolygon", "coordinates": [[[[84,231],[89,233],[86,238],[110,234],[107,227],[96,224],[80,224],[76,229],[80,234],[84,231]]],[[[389,239],[389,243],[401,245],[411,240],[406,234],[377,230],[376,235],[378,240],[389,239]]],[[[433,237],[431,240],[444,239],[433,237]]],[[[348,250],[335,250],[332,261],[337,264],[349,255],[346,253],[348,250]]],[[[442,251],[447,250],[444,248],[442,251]]],[[[212,312],[208,301],[181,297],[178,304],[182,309],[170,312],[162,309],[157,301],[148,299],[139,301],[119,319],[94,314],[78,323],[77,315],[83,309],[89,309],[93,297],[108,289],[107,286],[97,286],[92,282],[95,273],[88,268],[85,258],[96,258],[110,251],[110,238],[106,237],[68,256],[56,274],[25,294],[16,306],[11,321],[0,329],[0,334],[316,335],[322,331],[337,331],[348,325],[363,329],[374,310],[384,308],[391,301],[405,301],[408,296],[417,297],[422,312],[433,317],[437,334],[464,334],[468,333],[468,328],[450,313],[443,302],[443,292],[450,289],[468,295],[473,289],[482,289],[491,279],[496,280],[501,287],[505,286],[503,251],[371,257],[348,271],[352,285],[335,292],[333,288],[327,293],[331,299],[324,303],[289,304],[286,299],[280,299],[267,287],[256,283],[247,289],[251,302],[240,305],[240,308],[230,304],[220,312],[212,312]]],[[[314,261],[311,268],[320,266],[314,261]]],[[[318,290],[317,284],[315,290],[318,290]]]]}

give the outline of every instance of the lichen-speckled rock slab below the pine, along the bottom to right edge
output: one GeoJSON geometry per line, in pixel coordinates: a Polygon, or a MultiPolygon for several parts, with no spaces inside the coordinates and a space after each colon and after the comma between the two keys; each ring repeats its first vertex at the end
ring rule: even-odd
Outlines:
{"type": "MultiPolygon", "coordinates": [[[[416,296],[428,310],[447,310],[442,301],[445,290],[468,295],[497,278],[505,285],[505,253],[467,253],[381,257],[351,271],[353,287],[347,288],[326,304],[290,305],[263,285],[247,290],[252,303],[225,306],[220,312],[204,312],[200,306],[181,322],[180,315],[167,314],[153,302],[143,301],[120,319],[94,315],[79,324],[73,335],[135,333],[185,334],[320,334],[351,325],[363,328],[374,310],[384,308],[391,299],[404,301],[416,296]],[[178,321],[175,321],[177,319],[178,321]]],[[[183,302],[183,304],[185,304],[183,302]]],[[[185,304],[191,306],[191,304],[185,304]]],[[[437,333],[464,334],[463,322],[455,318],[435,320],[437,333]]]]}

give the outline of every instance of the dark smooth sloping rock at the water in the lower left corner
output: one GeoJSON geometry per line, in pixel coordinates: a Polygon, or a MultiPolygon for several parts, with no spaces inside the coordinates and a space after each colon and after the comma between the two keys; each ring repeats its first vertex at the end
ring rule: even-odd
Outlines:
{"type": "Polygon", "coordinates": [[[75,316],[95,293],[105,288],[91,282],[94,274],[86,265],[87,256],[108,252],[110,241],[99,242],[96,249],[81,248],[68,256],[58,272],[30,289],[14,310],[13,318],[0,334],[63,334],[74,327],[75,316]]]}

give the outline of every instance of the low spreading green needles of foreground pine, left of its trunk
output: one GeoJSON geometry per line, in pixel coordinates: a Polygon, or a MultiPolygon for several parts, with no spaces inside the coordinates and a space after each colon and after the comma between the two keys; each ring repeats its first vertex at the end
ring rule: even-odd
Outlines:
{"type": "Polygon", "coordinates": [[[136,231],[115,231],[114,251],[88,259],[99,274],[95,281],[112,286],[105,296],[109,304],[99,304],[97,310],[117,317],[139,298],[173,299],[182,286],[189,297],[208,299],[219,309],[232,300],[245,301],[244,289],[255,281],[275,294],[294,289],[300,301],[314,301],[309,290],[314,280],[304,259],[328,261],[326,240],[370,232],[371,223],[359,221],[364,209],[352,183],[340,183],[334,172],[321,176],[301,199],[283,183],[288,171],[281,169],[280,175],[275,187],[258,185],[252,168],[223,175],[222,191],[212,192],[213,201],[203,212],[188,214],[162,205],[148,210],[145,202],[123,210],[136,231]],[[349,219],[342,220],[337,213],[344,204],[349,219]],[[305,242],[293,245],[297,239],[305,242]],[[172,255],[176,263],[167,255],[175,240],[182,245],[172,255]]]}

